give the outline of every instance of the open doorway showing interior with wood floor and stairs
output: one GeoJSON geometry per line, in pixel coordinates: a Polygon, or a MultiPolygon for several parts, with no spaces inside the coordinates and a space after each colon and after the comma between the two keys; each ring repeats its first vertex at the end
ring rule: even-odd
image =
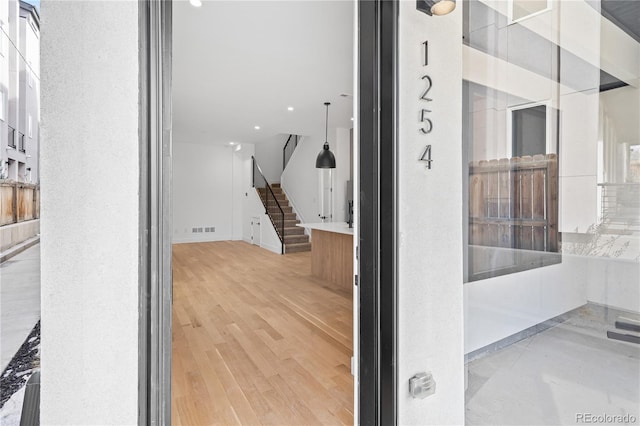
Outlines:
{"type": "Polygon", "coordinates": [[[353,424],[353,273],[314,274],[300,225],[347,228],[354,4],[177,2],[172,25],[172,423],[353,424]]]}

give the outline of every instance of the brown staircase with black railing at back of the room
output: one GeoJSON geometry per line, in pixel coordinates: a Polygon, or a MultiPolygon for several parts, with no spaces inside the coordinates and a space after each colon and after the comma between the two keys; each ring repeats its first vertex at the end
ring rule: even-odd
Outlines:
{"type": "MultiPolygon", "coordinates": [[[[256,188],[263,204],[267,206],[267,213],[269,217],[272,215],[279,215],[280,209],[276,205],[275,201],[268,199],[265,203],[266,188],[256,188]]],[[[309,236],[304,233],[304,228],[296,226],[300,223],[298,216],[293,211],[293,208],[289,205],[287,195],[284,193],[279,183],[272,183],[271,189],[275,195],[280,208],[284,212],[284,252],[285,253],[297,253],[302,251],[311,251],[311,242],[309,236]]],[[[268,198],[268,197],[267,197],[268,198]]],[[[272,218],[273,221],[273,218],[272,218]]],[[[276,226],[276,232],[279,232],[279,227],[276,226]]]]}

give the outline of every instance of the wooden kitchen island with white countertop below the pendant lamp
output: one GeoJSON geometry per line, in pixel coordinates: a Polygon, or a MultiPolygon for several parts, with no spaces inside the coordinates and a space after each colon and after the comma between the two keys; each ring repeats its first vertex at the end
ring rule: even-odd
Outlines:
{"type": "Polygon", "coordinates": [[[353,228],[346,222],[301,223],[311,230],[311,274],[353,289],[353,228]]]}

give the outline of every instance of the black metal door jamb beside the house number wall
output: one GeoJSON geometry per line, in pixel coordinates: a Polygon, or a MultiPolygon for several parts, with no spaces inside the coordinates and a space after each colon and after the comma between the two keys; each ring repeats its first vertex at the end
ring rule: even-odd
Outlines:
{"type": "Polygon", "coordinates": [[[360,0],[359,414],[397,424],[398,0],[360,0]]]}

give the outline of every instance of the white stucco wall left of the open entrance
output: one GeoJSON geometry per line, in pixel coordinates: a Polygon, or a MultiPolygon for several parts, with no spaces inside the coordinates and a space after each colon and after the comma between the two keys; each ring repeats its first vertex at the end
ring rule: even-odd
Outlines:
{"type": "Polygon", "coordinates": [[[138,3],[42,15],[40,421],[136,424],[138,3]]]}

